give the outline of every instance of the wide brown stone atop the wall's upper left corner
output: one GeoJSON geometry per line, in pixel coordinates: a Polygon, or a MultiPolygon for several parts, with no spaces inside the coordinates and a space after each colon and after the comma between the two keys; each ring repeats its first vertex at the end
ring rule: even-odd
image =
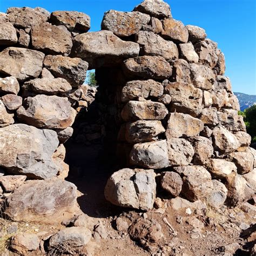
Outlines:
{"type": "Polygon", "coordinates": [[[43,8],[16,8],[11,7],[7,10],[9,21],[18,28],[32,28],[32,26],[46,22],[50,13],[43,8]]]}

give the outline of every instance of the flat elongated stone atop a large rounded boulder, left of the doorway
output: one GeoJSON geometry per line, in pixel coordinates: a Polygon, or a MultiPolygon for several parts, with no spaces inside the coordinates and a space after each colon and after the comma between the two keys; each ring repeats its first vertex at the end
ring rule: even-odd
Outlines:
{"type": "Polygon", "coordinates": [[[36,78],[25,82],[22,86],[23,92],[45,95],[64,95],[72,90],[71,85],[64,78],[36,78]]]}

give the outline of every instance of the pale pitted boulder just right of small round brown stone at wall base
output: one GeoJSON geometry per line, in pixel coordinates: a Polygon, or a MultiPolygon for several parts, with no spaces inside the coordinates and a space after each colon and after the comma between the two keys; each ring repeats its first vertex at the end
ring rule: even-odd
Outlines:
{"type": "Polygon", "coordinates": [[[183,178],[183,187],[181,194],[190,201],[206,199],[212,191],[211,174],[203,166],[192,165],[183,167],[174,167],[183,178]]]}

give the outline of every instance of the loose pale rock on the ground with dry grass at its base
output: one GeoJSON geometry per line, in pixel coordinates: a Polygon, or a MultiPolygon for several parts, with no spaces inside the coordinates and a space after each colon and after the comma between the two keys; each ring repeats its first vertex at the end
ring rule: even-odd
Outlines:
{"type": "Polygon", "coordinates": [[[85,246],[92,233],[85,227],[66,227],[49,240],[49,250],[53,252],[75,253],[77,247],[85,246]]]}

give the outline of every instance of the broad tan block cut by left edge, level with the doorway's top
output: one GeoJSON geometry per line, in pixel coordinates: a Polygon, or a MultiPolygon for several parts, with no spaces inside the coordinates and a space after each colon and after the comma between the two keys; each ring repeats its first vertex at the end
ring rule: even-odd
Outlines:
{"type": "Polygon", "coordinates": [[[14,76],[19,81],[37,78],[43,67],[44,53],[10,47],[0,52],[0,73],[14,76]]]}

